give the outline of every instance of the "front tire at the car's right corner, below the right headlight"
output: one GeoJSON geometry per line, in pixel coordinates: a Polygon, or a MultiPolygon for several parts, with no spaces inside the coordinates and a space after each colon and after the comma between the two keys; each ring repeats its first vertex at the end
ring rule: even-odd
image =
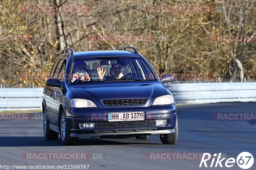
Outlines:
{"type": "Polygon", "coordinates": [[[175,133],[168,133],[159,135],[163,144],[176,144],[179,136],[178,117],[176,117],[176,126],[174,128],[175,133]]]}

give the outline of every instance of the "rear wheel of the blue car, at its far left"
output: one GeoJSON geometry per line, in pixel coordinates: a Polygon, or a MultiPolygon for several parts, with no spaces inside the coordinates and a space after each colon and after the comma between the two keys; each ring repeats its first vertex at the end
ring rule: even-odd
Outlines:
{"type": "Polygon", "coordinates": [[[49,120],[48,120],[48,116],[45,109],[43,109],[43,114],[44,114],[44,120],[43,120],[44,138],[46,140],[58,140],[59,133],[49,129],[49,120]]]}

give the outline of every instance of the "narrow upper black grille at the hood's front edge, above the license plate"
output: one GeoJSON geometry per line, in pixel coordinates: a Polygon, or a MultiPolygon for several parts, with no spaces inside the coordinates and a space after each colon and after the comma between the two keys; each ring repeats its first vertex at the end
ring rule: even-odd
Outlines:
{"type": "Polygon", "coordinates": [[[145,105],[148,99],[135,98],[135,99],[108,99],[101,100],[105,106],[132,106],[132,105],[145,105]]]}

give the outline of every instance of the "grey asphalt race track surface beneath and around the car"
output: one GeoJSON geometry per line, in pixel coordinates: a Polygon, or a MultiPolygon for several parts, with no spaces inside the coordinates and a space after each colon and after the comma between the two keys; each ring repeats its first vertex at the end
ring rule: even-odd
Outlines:
{"type": "MultiPolygon", "coordinates": [[[[164,145],[157,135],[151,135],[147,140],[80,138],[76,146],[63,146],[60,137],[58,141],[44,139],[42,120],[3,120],[2,118],[0,169],[3,165],[11,167],[12,165],[66,165],[67,169],[68,165],[89,165],[89,169],[240,169],[236,163],[232,168],[226,168],[225,162],[222,163],[224,166],[222,168],[220,166],[199,168],[201,159],[197,158],[196,154],[204,152],[211,154],[221,152],[223,157],[235,159],[241,152],[250,152],[254,156],[254,164],[250,169],[256,169],[256,129],[253,127],[256,121],[214,119],[216,113],[255,114],[256,103],[178,105],[177,112],[179,138],[175,145],[164,145]],[[59,153],[59,155],[86,153],[90,158],[35,159],[36,157],[28,157],[28,153],[34,156],[38,156],[39,153],[59,153]],[[148,156],[150,153],[151,157],[148,156]],[[159,158],[156,153],[161,153],[163,159],[154,159],[159,158]],[[166,159],[162,153],[172,154],[174,159],[173,157],[166,159]],[[189,154],[191,156],[191,153],[194,154],[192,160],[191,157],[186,158],[189,154]],[[179,154],[182,158],[177,157],[179,154]]],[[[211,160],[207,162],[208,166],[211,160]]]]}

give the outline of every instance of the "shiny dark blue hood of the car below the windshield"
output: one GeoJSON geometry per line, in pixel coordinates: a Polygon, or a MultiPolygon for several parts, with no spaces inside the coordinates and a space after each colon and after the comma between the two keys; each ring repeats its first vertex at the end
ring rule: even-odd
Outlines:
{"type": "Polygon", "coordinates": [[[74,83],[70,84],[69,88],[74,92],[72,98],[92,100],[99,108],[106,108],[101,102],[104,99],[131,98],[147,98],[148,101],[143,107],[148,107],[156,97],[166,94],[164,86],[159,81],[74,83]]]}

